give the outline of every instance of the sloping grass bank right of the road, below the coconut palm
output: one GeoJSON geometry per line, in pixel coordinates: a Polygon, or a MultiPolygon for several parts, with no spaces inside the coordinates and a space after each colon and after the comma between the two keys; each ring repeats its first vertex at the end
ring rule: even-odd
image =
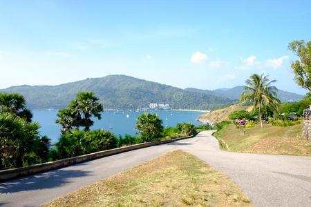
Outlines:
{"type": "Polygon", "coordinates": [[[223,143],[220,147],[233,152],[272,155],[311,155],[311,143],[301,138],[301,124],[288,127],[266,124],[246,128],[245,135],[233,124],[214,134],[223,143]],[[223,146],[226,146],[223,147],[223,146]]]}

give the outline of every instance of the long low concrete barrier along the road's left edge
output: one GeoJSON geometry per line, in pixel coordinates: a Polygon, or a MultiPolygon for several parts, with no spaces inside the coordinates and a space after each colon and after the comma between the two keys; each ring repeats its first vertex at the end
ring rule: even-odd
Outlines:
{"type": "Polygon", "coordinates": [[[159,144],[167,144],[167,143],[170,143],[173,141],[178,141],[181,139],[188,139],[188,138],[191,138],[194,136],[195,135],[189,136],[189,137],[181,137],[181,138],[177,138],[177,139],[170,139],[170,140],[151,141],[151,142],[146,142],[146,143],[141,143],[141,144],[134,144],[134,145],[126,146],[126,147],[122,147],[122,148],[115,148],[115,149],[111,149],[111,150],[94,152],[94,153],[91,153],[88,155],[80,155],[77,157],[59,159],[57,161],[50,161],[50,162],[46,162],[43,164],[36,164],[36,165],[32,165],[32,166],[25,166],[25,167],[21,167],[21,168],[14,168],[14,169],[8,169],[8,170],[0,170],[0,181],[5,181],[7,179],[12,179],[12,178],[16,178],[16,177],[23,177],[23,176],[27,176],[27,175],[32,175],[32,174],[35,174],[38,172],[54,170],[57,168],[63,168],[65,166],[78,164],[78,163],[81,163],[83,161],[90,161],[92,159],[98,159],[98,158],[106,157],[109,155],[115,155],[115,154],[119,154],[122,152],[128,152],[131,150],[137,150],[140,148],[147,148],[149,146],[156,146],[159,144]]]}

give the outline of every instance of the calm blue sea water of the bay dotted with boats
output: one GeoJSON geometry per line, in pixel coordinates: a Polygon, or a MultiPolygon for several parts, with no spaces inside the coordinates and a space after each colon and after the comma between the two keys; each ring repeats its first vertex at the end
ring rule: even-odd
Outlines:
{"type": "MultiPolygon", "coordinates": [[[[41,128],[41,135],[47,135],[50,137],[52,143],[55,143],[59,138],[60,125],[55,124],[57,119],[58,110],[32,110],[33,121],[38,121],[41,128]]],[[[179,111],[179,110],[157,110],[153,111],[163,121],[163,126],[176,126],[177,123],[191,122],[195,125],[200,124],[196,119],[202,112],[196,111],[179,111]]],[[[94,125],[91,129],[103,128],[110,130],[115,135],[135,135],[135,122],[142,111],[104,111],[102,113],[102,119],[98,120],[93,118],[94,125]]]]}

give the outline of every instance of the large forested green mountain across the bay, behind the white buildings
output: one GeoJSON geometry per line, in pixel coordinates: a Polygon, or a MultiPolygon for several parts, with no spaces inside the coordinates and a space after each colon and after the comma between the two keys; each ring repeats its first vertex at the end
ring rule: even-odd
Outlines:
{"type": "Polygon", "coordinates": [[[144,108],[155,102],[169,103],[172,108],[209,110],[232,103],[228,98],[189,92],[125,75],[109,75],[58,86],[12,86],[0,92],[20,93],[29,108],[64,108],[77,92],[83,90],[95,92],[104,108],[113,109],[144,108]]]}

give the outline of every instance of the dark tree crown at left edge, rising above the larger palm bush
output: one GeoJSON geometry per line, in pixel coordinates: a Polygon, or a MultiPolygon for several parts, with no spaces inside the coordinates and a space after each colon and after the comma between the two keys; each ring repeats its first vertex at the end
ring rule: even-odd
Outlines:
{"type": "Polygon", "coordinates": [[[26,108],[26,101],[22,95],[16,93],[0,93],[0,113],[9,112],[17,117],[31,122],[32,112],[26,108]]]}

